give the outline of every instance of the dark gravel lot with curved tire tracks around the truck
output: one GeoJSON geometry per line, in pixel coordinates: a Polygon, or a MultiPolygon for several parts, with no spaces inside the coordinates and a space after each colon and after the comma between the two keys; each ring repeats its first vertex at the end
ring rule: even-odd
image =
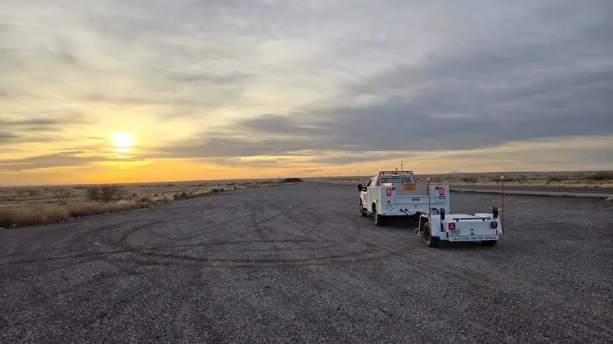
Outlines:
{"type": "Polygon", "coordinates": [[[612,343],[613,202],[508,196],[497,246],[440,248],[357,205],[307,183],[1,230],[0,341],[612,343]]]}

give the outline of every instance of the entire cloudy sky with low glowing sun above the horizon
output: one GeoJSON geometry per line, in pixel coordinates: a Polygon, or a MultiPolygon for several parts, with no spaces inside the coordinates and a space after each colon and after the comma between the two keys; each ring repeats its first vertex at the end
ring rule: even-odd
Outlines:
{"type": "Polygon", "coordinates": [[[613,170],[613,1],[0,0],[0,185],[613,170]]]}

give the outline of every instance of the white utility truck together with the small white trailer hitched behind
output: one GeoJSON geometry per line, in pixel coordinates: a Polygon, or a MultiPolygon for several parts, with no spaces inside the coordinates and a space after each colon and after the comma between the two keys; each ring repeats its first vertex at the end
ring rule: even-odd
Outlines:
{"type": "Polygon", "coordinates": [[[416,183],[413,172],[381,171],[366,186],[358,184],[361,216],[372,215],[377,226],[391,217],[419,219],[415,232],[428,247],[440,241],[481,241],[494,246],[502,238],[497,207],[491,213],[450,214],[449,186],[416,183]]]}

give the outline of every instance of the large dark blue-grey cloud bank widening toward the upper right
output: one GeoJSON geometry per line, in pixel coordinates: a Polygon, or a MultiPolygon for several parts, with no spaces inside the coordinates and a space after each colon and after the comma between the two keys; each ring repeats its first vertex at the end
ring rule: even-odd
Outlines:
{"type": "MultiPolygon", "coordinates": [[[[534,37],[514,37],[521,28],[496,35],[496,27],[493,37],[504,39],[480,32],[476,36],[482,39],[429,53],[416,65],[362,77],[345,89],[349,100],[376,96],[375,103],[240,120],[228,127],[232,137],[207,132],[163,151],[190,157],[407,152],[612,134],[613,11],[607,10],[613,6],[606,1],[590,8],[569,1],[548,4],[524,18],[532,20],[524,24],[534,37]],[[546,34],[539,37],[539,30],[546,34]]],[[[342,46],[347,54],[355,48],[342,46]]],[[[320,160],[343,163],[352,157],[320,160]]]]}

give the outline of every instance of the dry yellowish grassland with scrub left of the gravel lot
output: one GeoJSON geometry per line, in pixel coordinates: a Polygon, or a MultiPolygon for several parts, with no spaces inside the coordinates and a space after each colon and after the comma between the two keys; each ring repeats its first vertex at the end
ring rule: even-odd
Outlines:
{"type": "Polygon", "coordinates": [[[271,181],[225,182],[211,184],[124,185],[122,199],[112,202],[87,200],[84,186],[38,189],[6,188],[0,190],[0,228],[37,226],[66,222],[75,217],[106,214],[134,208],[151,208],[173,200],[207,196],[236,189],[252,189],[275,184],[271,181]],[[169,192],[170,191],[170,192],[169,192]],[[61,194],[69,197],[58,198],[61,194]]]}

